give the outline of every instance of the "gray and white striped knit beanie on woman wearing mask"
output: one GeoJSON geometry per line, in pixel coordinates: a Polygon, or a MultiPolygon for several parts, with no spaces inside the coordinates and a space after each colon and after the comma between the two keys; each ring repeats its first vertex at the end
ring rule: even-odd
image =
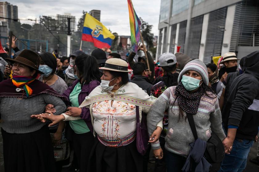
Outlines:
{"type": "Polygon", "coordinates": [[[204,82],[204,84],[208,85],[209,84],[209,77],[208,77],[208,70],[207,70],[207,67],[206,65],[200,61],[199,59],[195,59],[195,60],[192,60],[190,62],[188,62],[183,70],[180,72],[179,74],[179,77],[178,77],[178,82],[180,82],[182,80],[182,76],[183,74],[188,71],[188,70],[193,70],[193,71],[196,71],[198,72],[201,77],[202,77],[202,80],[204,82]]]}

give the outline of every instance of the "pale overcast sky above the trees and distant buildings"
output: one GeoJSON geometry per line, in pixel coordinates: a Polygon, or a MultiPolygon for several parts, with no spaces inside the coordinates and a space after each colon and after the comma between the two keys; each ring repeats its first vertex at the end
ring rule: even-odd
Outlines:
{"type": "MultiPolygon", "coordinates": [[[[18,18],[37,18],[40,15],[56,16],[56,14],[71,13],[76,16],[76,22],[82,11],[101,10],[101,22],[112,32],[119,35],[130,35],[129,10],[127,0],[9,0],[18,6],[18,18]]],[[[132,0],[134,9],[144,21],[153,25],[152,32],[158,35],[158,20],[160,11],[159,0],[132,0]]],[[[21,23],[32,24],[30,21],[21,23]]]]}

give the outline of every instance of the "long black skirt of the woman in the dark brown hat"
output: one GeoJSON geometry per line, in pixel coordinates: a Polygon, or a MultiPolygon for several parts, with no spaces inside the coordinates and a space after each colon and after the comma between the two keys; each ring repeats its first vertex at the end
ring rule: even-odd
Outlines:
{"type": "Polygon", "coordinates": [[[47,125],[23,134],[2,129],[5,172],[55,172],[53,146],[47,125]]]}

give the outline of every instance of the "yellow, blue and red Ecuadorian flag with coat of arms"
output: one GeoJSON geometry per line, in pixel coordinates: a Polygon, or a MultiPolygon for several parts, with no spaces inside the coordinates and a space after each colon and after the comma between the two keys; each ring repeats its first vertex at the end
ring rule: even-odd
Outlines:
{"type": "Polygon", "coordinates": [[[110,48],[115,36],[98,20],[86,13],[82,41],[93,42],[97,48],[110,48]]]}

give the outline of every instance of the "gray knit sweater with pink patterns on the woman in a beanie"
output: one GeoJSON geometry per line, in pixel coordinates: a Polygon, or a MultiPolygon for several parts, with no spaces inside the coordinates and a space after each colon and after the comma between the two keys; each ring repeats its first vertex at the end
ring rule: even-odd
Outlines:
{"type": "MultiPolygon", "coordinates": [[[[167,151],[187,157],[190,151],[189,144],[195,142],[188,119],[179,119],[179,105],[174,104],[176,95],[175,87],[167,88],[155,101],[147,115],[147,127],[149,135],[156,129],[157,121],[164,117],[164,112],[168,109],[168,129],[165,137],[167,151]],[[174,105],[173,105],[174,104],[174,105]]],[[[184,112],[184,116],[186,113],[184,112]]],[[[221,113],[217,97],[201,97],[197,114],[193,115],[198,137],[208,141],[212,130],[223,140],[226,136],[221,125],[221,113]]],[[[159,149],[160,143],[151,144],[152,149],[159,149]]]]}

